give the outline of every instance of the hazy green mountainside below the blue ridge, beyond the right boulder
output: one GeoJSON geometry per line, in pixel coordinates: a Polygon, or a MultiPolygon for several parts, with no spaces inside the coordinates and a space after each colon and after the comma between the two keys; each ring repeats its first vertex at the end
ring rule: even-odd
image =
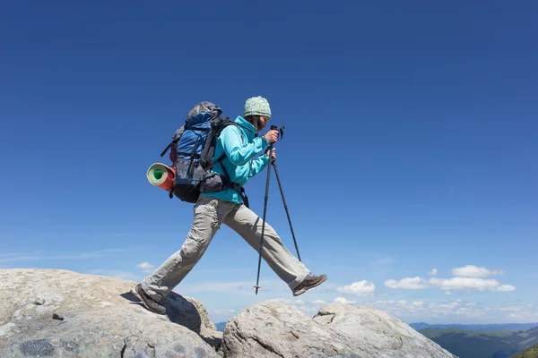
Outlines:
{"type": "Polygon", "coordinates": [[[538,328],[525,331],[425,328],[419,332],[459,358],[508,358],[538,344],[538,328]]]}

